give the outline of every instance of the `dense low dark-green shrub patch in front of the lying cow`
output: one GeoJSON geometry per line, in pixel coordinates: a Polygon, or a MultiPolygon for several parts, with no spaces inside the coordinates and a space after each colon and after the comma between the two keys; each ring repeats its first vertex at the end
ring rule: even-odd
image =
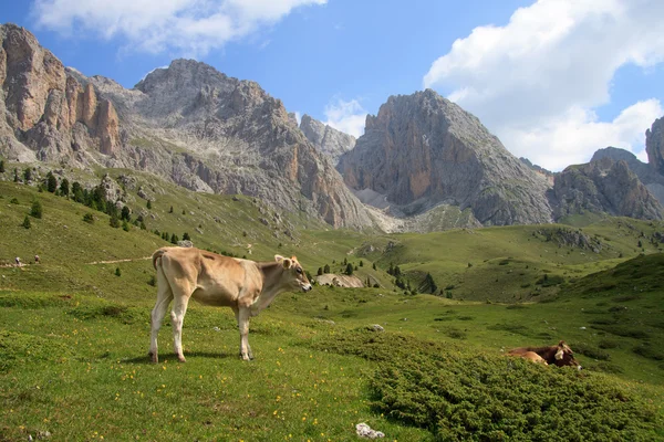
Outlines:
{"type": "Polygon", "coordinates": [[[391,333],[333,335],[315,348],[378,362],[373,407],[439,441],[656,440],[656,406],[603,375],[391,333]]]}

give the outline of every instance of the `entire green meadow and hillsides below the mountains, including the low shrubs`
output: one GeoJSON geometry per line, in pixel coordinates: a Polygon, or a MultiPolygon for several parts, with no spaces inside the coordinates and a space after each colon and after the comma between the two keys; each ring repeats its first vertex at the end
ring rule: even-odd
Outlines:
{"type": "Polygon", "coordinates": [[[664,439],[661,223],[333,231],[136,177],[128,206],[146,230],[0,181],[0,441],[345,441],[360,422],[401,441],[664,439]],[[35,200],[41,219],[29,215],[35,200]],[[187,362],[165,320],[153,365],[148,257],[168,245],[155,229],[255,260],[297,254],[311,274],[347,261],[378,287],[280,295],[251,320],[250,362],[230,309],[193,304],[187,362]],[[574,232],[590,248],[571,244],[574,232]],[[429,273],[438,292],[397,288],[391,264],[415,287],[429,273]],[[560,339],[583,370],[502,356],[560,339]]]}

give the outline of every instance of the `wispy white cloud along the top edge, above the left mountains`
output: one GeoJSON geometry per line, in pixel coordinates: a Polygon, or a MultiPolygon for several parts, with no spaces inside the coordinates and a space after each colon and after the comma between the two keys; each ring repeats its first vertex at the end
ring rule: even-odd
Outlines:
{"type": "Polygon", "coordinates": [[[63,34],[121,36],[127,49],[205,55],[326,0],[37,0],[38,25],[63,34]]]}

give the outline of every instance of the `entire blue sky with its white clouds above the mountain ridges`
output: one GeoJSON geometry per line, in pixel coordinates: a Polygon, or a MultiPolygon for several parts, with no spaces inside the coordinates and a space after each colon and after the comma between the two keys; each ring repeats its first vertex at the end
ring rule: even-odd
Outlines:
{"type": "Polygon", "coordinates": [[[662,17],[661,0],[0,1],[85,75],[132,87],[193,57],[356,136],[390,95],[432,87],[552,170],[609,145],[646,159],[662,17]]]}

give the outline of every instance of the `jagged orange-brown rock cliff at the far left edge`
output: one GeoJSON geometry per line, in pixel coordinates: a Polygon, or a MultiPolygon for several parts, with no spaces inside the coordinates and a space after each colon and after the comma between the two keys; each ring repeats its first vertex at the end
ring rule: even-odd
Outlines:
{"type": "Polygon", "coordinates": [[[113,103],[69,75],[23,28],[0,25],[0,41],[3,155],[87,165],[97,152],[118,151],[121,127],[113,103]]]}

